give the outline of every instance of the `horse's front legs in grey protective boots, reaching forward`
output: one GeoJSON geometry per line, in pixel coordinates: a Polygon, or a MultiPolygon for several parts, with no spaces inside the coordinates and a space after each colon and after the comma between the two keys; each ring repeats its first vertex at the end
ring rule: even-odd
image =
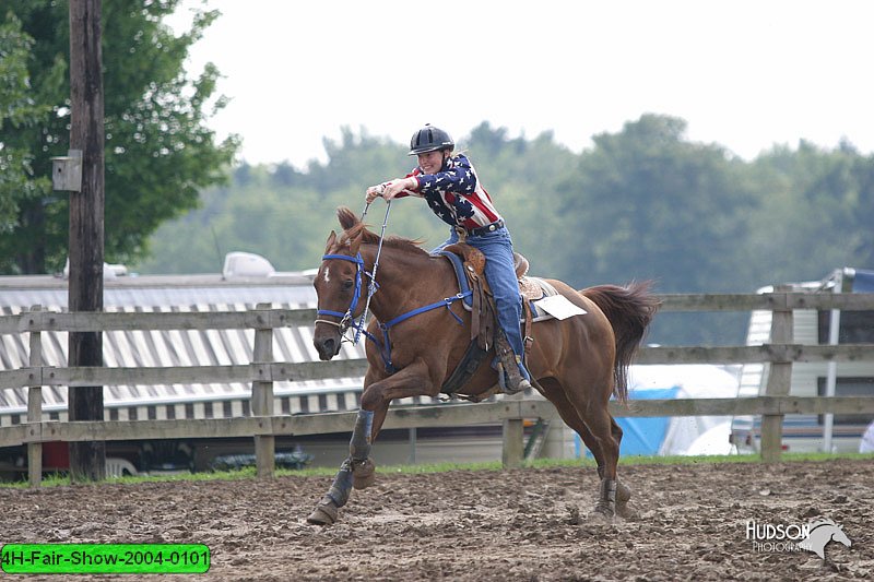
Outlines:
{"type": "Polygon", "coordinates": [[[425,378],[427,378],[427,366],[421,359],[416,359],[414,364],[395,375],[376,382],[370,382],[368,375],[365,379],[362,407],[355,418],[355,427],[349,443],[350,455],[340,465],[340,471],[328,492],[307,518],[308,523],[331,525],[336,521],[338,509],[349,501],[353,488],[364,489],[374,484],[376,465],[370,460],[370,446],[382,427],[389,404],[395,397],[427,393],[423,390],[429,390],[433,382],[425,381],[425,378]],[[415,393],[408,394],[408,391],[413,390],[416,384],[418,388],[415,393]]]}

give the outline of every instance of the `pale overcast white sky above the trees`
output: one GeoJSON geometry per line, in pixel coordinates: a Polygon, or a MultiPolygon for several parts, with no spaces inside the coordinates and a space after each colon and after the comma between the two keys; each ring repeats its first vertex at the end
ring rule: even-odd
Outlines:
{"type": "Polygon", "coordinates": [[[866,0],[206,4],[223,16],[189,68],[225,76],[232,102],[211,126],[240,134],[250,164],[324,159],[342,127],[408,143],[426,122],[457,140],[482,121],[553,131],[580,152],[646,112],[747,159],[800,139],[874,150],[866,0]]]}

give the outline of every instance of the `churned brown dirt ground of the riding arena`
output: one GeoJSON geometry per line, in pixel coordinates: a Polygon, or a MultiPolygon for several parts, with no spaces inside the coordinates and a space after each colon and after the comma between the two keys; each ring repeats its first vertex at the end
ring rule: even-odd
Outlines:
{"type": "MultiPolygon", "coordinates": [[[[871,580],[874,461],[625,466],[636,520],[589,518],[591,468],[378,475],[329,527],[330,478],[0,489],[2,543],[201,543],[206,574],[169,580],[871,580]],[[830,518],[825,560],[761,550],[747,522],[830,518]]],[[[168,580],[165,575],[149,577],[168,580]]],[[[11,578],[10,578],[11,579],[11,578]]],[[[131,580],[39,575],[21,580],[131,580]]]]}

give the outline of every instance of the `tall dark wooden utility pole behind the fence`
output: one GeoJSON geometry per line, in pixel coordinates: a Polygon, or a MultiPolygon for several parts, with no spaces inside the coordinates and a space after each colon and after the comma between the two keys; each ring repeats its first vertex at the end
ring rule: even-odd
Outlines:
{"type": "MultiPolygon", "coordinates": [[[[82,189],[70,192],[70,281],[73,311],[103,311],[104,100],[101,0],[70,0],[70,149],[82,152],[82,189]]],[[[70,367],[103,366],[103,333],[71,332],[70,367]]],[[[103,387],[70,387],[70,420],[103,420],[103,387]]],[[[73,482],[106,475],[104,441],[70,443],[73,482]]]]}

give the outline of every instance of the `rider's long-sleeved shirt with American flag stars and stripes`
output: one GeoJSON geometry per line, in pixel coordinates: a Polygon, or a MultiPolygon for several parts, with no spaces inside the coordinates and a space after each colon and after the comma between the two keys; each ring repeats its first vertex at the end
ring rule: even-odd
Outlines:
{"type": "Polygon", "coordinates": [[[404,190],[398,198],[424,198],[430,210],[450,226],[471,229],[500,219],[492,197],[480,185],[476,170],[464,154],[449,157],[437,174],[423,174],[422,168],[416,167],[406,177],[415,177],[418,190],[404,190]]]}

